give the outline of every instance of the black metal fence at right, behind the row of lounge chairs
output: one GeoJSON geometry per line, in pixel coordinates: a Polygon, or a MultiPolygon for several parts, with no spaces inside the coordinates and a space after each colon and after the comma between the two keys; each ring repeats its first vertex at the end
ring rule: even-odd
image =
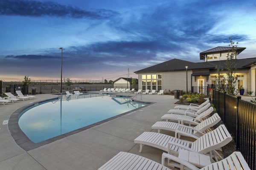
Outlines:
{"type": "Polygon", "coordinates": [[[233,135],[239,150],[252,170],[256,170],[256,105],[208,86],[208,97],[233,135]]]}

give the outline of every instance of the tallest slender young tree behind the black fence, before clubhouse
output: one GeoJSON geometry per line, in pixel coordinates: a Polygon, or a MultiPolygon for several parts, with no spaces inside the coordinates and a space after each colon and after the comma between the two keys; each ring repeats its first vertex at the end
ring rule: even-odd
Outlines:
{"type": "Polygon", "coordinates": [[[231,38],[229,38],[229,40],[230,40],[229,47],[231,47],[231,50],[228,51],[227,60],[224,63],[227,70],[227,78],[224,78],[224,79],[227,82],[227,94],[235,96],[237,76],[236,76],[236,62],[234,57],[236,57],[236,48],[237,48],[238,42],[236,43],[233,42],[231,38]]]}

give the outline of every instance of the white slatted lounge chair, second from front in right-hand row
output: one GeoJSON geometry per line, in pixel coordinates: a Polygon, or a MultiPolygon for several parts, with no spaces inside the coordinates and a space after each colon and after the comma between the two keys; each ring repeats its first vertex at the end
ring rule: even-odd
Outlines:
{"type": "Polygon", "coordinates": [[[185,149],[201,154],[210,153],[210,155],[212,155],[212,153],[214,153],[215,156],[219,157],[221,156],[215,150],[225,146],[230,141],[232,141],[232,136],[225,125],[220,125],[211,132],[196,139],[194,142],[177,139],[172,136],[155,132],[144,132],[134,139],[134,143],[140,144],[139,152],[142,151],[143,145],[148,145],[172,153],[176,156],[180,149],[185,149]]]}

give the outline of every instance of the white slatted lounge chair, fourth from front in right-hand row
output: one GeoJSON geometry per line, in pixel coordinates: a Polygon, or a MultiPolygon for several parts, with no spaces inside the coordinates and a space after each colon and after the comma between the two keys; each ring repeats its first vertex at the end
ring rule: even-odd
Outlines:
{"type": "Polygon", "coordinates": [[[194,117],[180,115],[180,114],[165,114],[161,117],[161,119],[168,120],[177,120],[180,124],[184,124],[184,122],[188,123],[189,126],[191,124],[198,125],[198,123],[202,122],[206,116],[208,116],[210,113],[212,113],[213,108],[210,107],[206,111],[202,112],[200,115],[194,117]]]}

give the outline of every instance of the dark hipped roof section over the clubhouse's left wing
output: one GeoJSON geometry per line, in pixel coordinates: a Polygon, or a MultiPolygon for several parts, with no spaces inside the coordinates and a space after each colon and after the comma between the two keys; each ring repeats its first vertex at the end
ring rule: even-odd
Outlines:
{"type": "Polygon", "coordinates": [[[169,61],[162,62],[160,64],[153,65],[139,71],[135,71],[134,73],[182,71],[186,70],[186,66],[188,66],[188,69],[205,68],[205,65],[202,65],[201,63],[189,62],[182,59],[171,59],[169,61]]]}

